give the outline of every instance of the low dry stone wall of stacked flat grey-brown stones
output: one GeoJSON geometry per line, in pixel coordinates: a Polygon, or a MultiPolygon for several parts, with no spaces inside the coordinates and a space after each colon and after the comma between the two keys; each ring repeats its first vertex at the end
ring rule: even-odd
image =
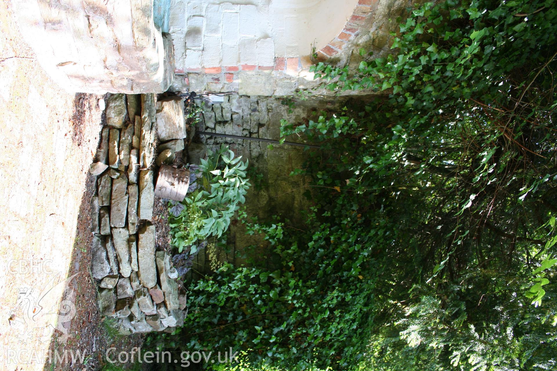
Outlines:
{"type": "Polygon", "coordinates": [[[102,315],[119,319],[124,334],[172,330],[183,324],[187,293],[164,251],[155,249],[155,147],[184,148],[183,101],[154,94],[108,98],[106,123],[91,165],[91,274],[102,315]],[[157,135],[157,131],[159,135],[157,135]],[[180,147],[179,142],[182,142],[180,147]]]}

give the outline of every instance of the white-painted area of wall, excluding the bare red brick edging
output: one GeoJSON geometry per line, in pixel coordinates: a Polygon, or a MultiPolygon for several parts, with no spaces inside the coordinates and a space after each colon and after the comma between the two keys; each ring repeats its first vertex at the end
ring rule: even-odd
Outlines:
{"type": "Polygon", "coordinates": [[[358,0],[172,0],[176,68],[272,66],[343,29],[358,0]]]}

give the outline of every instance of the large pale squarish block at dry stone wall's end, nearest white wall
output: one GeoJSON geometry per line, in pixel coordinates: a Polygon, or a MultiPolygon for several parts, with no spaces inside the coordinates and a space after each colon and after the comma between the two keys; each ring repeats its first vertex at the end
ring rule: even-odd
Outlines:
{"type": "Polygon", "coordinates": [[[157,102],[157,133],[161,141],[186,137],[182,98],[167,97],[157,102]]]}

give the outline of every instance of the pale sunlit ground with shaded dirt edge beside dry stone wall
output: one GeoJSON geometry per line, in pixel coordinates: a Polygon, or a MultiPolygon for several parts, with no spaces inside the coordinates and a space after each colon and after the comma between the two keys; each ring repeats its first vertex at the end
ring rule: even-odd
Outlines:
{"type": "Polygon", "coordinates": [[[6,1],[0,33],[0,369],[100,369],[109,347],[141,342],[98,315],[89,270],[103,97],[58,87],[6,1]]]}

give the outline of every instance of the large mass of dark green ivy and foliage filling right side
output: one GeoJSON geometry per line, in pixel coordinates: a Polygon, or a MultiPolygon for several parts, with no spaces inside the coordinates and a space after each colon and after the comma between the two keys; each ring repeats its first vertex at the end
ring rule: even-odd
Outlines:
{"type": "Polygon", "coordinates": [[[292,172],[314,206],[245,221],[267,249],[193,283],[168,347],[233,344],[254,369],[557,369],[557,8],[446,1],[400,21],[394,55],[314,67],[379,95],[282,122],[322,143],[292,172]]]}

